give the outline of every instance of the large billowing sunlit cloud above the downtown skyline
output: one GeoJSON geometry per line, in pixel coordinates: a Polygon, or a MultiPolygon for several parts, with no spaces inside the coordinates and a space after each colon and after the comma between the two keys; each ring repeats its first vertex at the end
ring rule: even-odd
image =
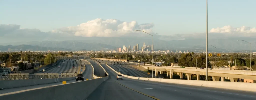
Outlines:
{"type": "MultiPolygon", "coordinates": [[[[53,33],[71,34],[77,37],[121,37],[139,35],[135,30],[152,33],[154,24],[138,24],[136,21],[125,22],[116,19],[103,20],[97,18],[78,26],[71,26],[53,30],[53,33]]],[[[154,33],[152,33],[154,34],[154,33]]]]}

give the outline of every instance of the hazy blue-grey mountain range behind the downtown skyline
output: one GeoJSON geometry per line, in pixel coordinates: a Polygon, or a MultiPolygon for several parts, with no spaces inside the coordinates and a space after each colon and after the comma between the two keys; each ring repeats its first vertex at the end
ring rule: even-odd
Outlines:
{"type": "MultiPolygon", "coordinates": [[[[250,51],[250,44],[244,41],[247,40],[252,43],[252,50],[255,51],[256,38],[226,38],[226,39],[209,39],[208,46],[209,51],[217,52],[239,52],[250,51]]],[[[85,37],[82,40],[66,40],[66,41],[31,41],[31,42],[13,42],[13,43],[0,43],[0,50],[7,51],[8,48],[12,50],[27,49],[30,51],[70,51],[70,50],[115,50],[115,48],[123,48],[125,45],[131,48],[139,44],[139,49],[146,45],[152,45],[152,39],[148,37],[85,37]],[[13,46],[12,46],[13,45],[13,46]],[[29,46],[30,45],[30,46],[29,46]],[[25,48],[24,48],[25,47],[25,48]]],[[[185,40],[170,40],[165,41],[162,39],[154,39],[154,49],[161,50],[205,50],[206,39],[185,39],[185,40]]]]}

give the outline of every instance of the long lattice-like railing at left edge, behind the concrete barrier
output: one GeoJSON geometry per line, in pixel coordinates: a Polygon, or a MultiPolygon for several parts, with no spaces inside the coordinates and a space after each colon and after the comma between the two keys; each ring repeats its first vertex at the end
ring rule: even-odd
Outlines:
{"type": "Polygon", "coordinates": [[[58,79],[76,77],[73,73],[62,74],[15,74],[15,75],[0,75],[0,80],[29,80],[29,79],[58,79]]]}

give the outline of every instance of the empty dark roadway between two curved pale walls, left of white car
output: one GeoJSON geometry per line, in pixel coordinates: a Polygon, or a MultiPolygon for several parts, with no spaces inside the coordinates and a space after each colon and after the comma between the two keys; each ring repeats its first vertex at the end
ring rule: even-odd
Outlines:
{"type": "MultiPolygon", "coordinates": [[[[95,76],[106,76],[104,70],[100,67],[100,63],[98,61],[95,61],[94,64],[94,60],[87,60],[90,61],[90,63],[93,65],[94,68],[94,75],[95,76]]],[[[100,61],[102,63],[102,61],[100,61]]]]}

